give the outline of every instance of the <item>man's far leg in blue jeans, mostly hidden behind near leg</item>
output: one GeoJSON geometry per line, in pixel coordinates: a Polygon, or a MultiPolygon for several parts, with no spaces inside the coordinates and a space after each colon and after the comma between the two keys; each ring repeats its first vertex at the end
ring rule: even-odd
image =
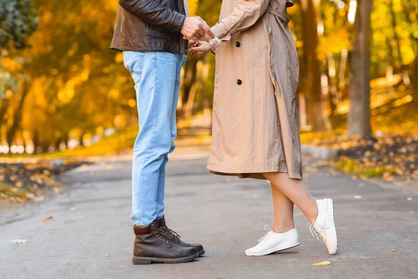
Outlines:
{"type": "MultiPolygon", "coordinates": [[[[178,55],[178,63],[176,69],[176,84],[174,86],[173,94],[173,104],[171,105],[171,115],[170,115],[170,130],[171,130],[171,148],[169,153],[173,152],[176,148],[174,140],[177,137],[177,121],[176,121],[176,111],[178,103],[178,93],[180,92],[180,72],[183,64],[185,63],[187,56],[178,55]]],[[[157,193],[157,218],[162,218],[164,216],[164,188],[165,188],[165,166],[169,161],[168,154],[164,156],[163,163],[160,167],[160,178],[158,180],[158,193],[157,193]]]]}

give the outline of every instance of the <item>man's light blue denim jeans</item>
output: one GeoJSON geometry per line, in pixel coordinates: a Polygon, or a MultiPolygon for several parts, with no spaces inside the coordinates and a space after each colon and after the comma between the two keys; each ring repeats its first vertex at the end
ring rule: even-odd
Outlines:
{"type": "Polygon", "coordinates": [[[164,215],[165,165],[176,144],[180,70],[187,56],[168,52],[123,52],[137,92],[139,134],[132,162],[132,216],[148,225],[164,215]]]}

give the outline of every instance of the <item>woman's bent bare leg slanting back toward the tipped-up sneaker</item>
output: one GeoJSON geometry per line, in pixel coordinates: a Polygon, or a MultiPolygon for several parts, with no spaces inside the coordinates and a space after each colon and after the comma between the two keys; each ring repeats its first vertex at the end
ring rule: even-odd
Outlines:
{"type": "Polygon", "coordinates": [[[263,173],[272,185],[276,186],[288,199],[290,199],[302,211],[304,216],[312,223],[318,217],[316,199],[308,192],[304,183],[299,179],[289,178],[283,172],[263,173]]]}

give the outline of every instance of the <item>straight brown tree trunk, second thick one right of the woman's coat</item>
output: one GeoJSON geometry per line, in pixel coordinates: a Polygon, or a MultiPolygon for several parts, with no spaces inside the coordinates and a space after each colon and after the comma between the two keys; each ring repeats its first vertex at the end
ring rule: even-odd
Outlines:
{"type": "Polygon", "coordinates": [[[357,38],[351,61],[348,135],[370,137],[370,15],[373,0],[359,1],[355,22],[357,38]]]}

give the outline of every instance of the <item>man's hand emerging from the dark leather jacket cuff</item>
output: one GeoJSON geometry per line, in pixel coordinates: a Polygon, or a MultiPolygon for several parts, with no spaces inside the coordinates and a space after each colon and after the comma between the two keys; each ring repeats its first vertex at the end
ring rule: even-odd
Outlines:
{"type": "Polygon", "coordinates": [[[210,40],[214,38],[209,25],[201,17],[186,17],[180,32],[190,40],[210,40]]]}

